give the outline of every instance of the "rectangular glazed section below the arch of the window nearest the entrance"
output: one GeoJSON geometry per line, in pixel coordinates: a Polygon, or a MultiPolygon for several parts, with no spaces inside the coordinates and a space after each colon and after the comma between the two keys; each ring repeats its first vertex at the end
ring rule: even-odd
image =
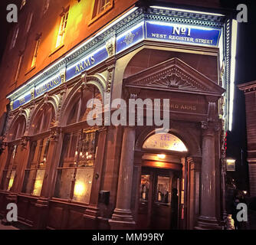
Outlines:
{"type": "Polygon", "coordinates": [[[96,132],[66,133],[57,168],[54,197],[88,203],[94,175],[96,132]]]}

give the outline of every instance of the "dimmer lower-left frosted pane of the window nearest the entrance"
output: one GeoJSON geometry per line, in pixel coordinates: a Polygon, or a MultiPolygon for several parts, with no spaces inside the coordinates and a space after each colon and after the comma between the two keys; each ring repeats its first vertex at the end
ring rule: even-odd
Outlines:
{"type": "Polygon", "coordinates": [[[74,168],[57,170],[57,181],[54,193],[55,198],[71,198],[71,184],[74,179],[74,170],[74,168]]]}

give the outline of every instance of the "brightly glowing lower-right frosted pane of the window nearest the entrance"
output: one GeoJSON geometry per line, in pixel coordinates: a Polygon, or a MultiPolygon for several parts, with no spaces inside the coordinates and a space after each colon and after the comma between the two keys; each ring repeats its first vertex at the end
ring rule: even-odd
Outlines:
{"type": "Polygon", "coordinates": [[[77,168],[73,200],[89,203],[94,168],[77,168]]]}

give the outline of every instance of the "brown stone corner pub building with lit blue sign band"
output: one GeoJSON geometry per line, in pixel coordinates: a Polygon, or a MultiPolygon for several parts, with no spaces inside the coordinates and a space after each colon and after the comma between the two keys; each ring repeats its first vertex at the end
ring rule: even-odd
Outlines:
{"type": "MultiPolygon", "coordinates": [[[[48,11],[56,11],[55,1],[46,2],[48,11]]],[[[24,75],[31,77],[5,93],[2,224],[8,224],[7,204],[15,203],[18,222],[31,229],[221,229],[230,15],[218,1],[212,8],[175,1],[89,2],[61,2],[63,11],[54,16],[61,35],[54,39],[36,30],[41,33],[35,52],[44,55],[44,38],[65,45],[67,52],[58,56],[55,49],[48,66],[32,69],[33,76],[24,75]],[[88,29],[94,21],[102,25],[76,46],[66,45],[68,35],[77,37],[69,21],[82,18],[86,9],[88,29]],[[137,115],[134,126],[114,126],[110,116],[119,107],[109,103],[119,98],[127,104],[130,98],[169,99],[169,131],[146,126],[146,113],[143,125],[137,115]],[[105,104],[94,116],[101,125],[87,121],[94,109],[87,107],[90,99],[105,104]],[[172,205],[177,206],[174,226],[172,205]]],[[[30,5],[25,2],[21,11],[30,5]]],[[[21,56],[26,60],[26,49],[21,56]]],[[[18,69],[22,77],[25,66],[18,62],[18,69]]]]}

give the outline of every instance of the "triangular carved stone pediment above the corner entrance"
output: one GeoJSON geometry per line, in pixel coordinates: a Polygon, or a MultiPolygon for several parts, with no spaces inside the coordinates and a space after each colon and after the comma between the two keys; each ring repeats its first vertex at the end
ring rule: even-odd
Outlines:
{"type": "Polygon", "coordinates": [[[221,96],[225,90],[178,58],[166,60],[124,80],[126,87],[221,96]]]}

